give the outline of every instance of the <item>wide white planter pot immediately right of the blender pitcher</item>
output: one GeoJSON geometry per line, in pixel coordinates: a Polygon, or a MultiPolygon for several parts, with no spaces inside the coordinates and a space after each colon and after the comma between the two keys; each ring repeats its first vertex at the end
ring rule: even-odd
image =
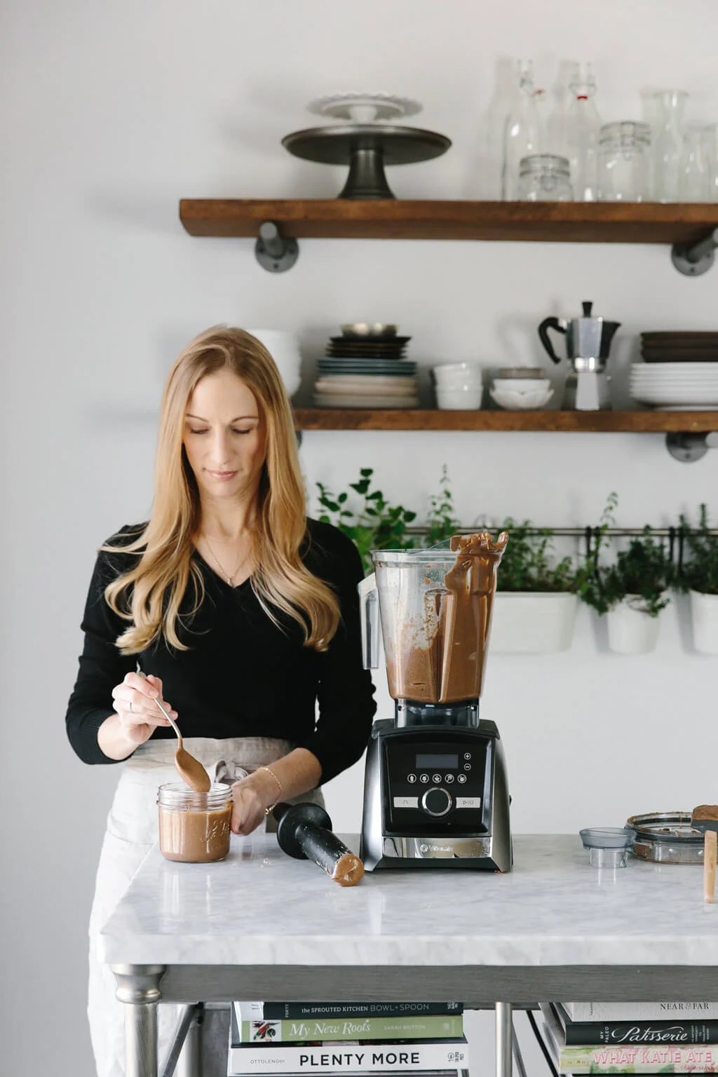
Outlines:
{"type": "Polygon", "coordinates": [[[577,609],[578,598],[565,591],[497,591],[489,649],[524,655],[567,651],[577,609]]]}

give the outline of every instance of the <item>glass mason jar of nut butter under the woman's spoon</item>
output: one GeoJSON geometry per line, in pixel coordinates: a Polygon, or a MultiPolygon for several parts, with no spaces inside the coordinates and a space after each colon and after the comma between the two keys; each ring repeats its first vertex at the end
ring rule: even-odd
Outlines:
{"type": "Polygon", "coordinates": [[[214,784],[208,793],[195,793],[184,782],[170,782],[157,789],[159,852],[168,861],[209,864],[229,852],[231,788],[214,784]]]}

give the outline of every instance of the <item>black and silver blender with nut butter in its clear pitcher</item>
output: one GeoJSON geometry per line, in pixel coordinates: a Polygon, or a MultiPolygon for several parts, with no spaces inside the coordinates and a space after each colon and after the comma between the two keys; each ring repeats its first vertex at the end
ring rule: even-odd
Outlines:
{"type": "Polygon", "coordinates": [[[360,586],[364,665],[384,645],[394,717],[367,747],[361,857],[376,868],[509,871],[504,750],[479,717],[496,570],[507,534],[450,549],[374,550],[360,586]]]}

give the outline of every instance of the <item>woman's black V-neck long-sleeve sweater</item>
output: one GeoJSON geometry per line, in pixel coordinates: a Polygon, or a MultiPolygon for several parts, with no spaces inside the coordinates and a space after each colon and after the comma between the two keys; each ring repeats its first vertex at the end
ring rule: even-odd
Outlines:
{"type": "MultiPolygon", "coordinates": [[[[188,651],[163,641],[125,657],[115,640],[127,621],[113,613],[104,588],[136,563],[136,554],[100,551],[89,585],[82,629],[80,670],[66,717],[68,737],[85,763],[114,763],[100,750],[97,731],[113,712],[112,688],[138,666],[161,677],[164,696],[178,711],[184,737],[277,737],[312,752],[322,783],[346,770],[366,747],[376,711],[369,674],[362,668],[358,598],[362,563],[353,543],[328,523],[308,520],[302,560],[330,584],[339,598],[341,623],[328,649],[302,645],[292,618],[272,624],[249,581],[226,584],[199,554],[205,599],[180,630],[188,651]],[[316,714],[319,702],[319,715],[316,714]]],[[[143,528],[125,527],[110,542],[130,542],[143,528]]],[[[192,590],[192,588],[189,588],[192,590]]],[[[185,600],[188,610],[192,602],[185,600]]],[[[172,738],[170,728],[153,737],[172,738]]]]}

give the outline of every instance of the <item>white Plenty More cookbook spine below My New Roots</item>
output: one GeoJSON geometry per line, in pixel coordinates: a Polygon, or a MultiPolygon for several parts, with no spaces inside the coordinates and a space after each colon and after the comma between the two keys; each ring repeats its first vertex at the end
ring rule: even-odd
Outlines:
{"type": "Polygon", "coordinates": [[[230,1044],[227,1074],[411,1073],[466,1068],[461,1039],[413,1043],[230,1044]]]}

